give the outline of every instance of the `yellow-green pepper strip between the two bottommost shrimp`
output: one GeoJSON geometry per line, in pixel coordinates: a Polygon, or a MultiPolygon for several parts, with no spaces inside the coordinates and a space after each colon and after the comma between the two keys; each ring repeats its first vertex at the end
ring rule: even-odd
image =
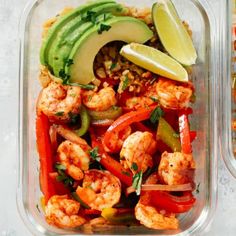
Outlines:
{"type": "Polygon", "coordinates": [[[133,212],[119,213],[115,208],[105,208],[101,216],[112,223],[128,223],[135,221],[133,212]]]}

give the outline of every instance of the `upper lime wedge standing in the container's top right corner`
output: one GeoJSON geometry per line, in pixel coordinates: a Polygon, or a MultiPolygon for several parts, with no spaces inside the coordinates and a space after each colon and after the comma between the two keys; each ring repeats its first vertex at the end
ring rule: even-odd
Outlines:
{"type": "Polygon", "coordinates": [[[170,0],[158,0],[152,7],[152,18],[166,51],[178,62],[195,64],[197,53],[191,37],[183,26],[170,0]]]}

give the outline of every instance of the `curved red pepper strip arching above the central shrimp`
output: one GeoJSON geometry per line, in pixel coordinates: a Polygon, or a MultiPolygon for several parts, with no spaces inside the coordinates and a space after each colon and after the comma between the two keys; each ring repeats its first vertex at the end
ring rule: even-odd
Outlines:
{"type": "Polygon", "coordinates": [[[110,140],[112,140],[112,136],[116,133],[119,133],[125,127],[131,125],[134,122],[139,122],[143,120],[149,119],[152,111],[155,109],[155,106],[150,106],[149,108],[142,108],[138,111],[131,111],[120,116],[114,123],[108,128],[107,132],[104,136],[104,144],[112,150],[110,145],[110,140]]]}

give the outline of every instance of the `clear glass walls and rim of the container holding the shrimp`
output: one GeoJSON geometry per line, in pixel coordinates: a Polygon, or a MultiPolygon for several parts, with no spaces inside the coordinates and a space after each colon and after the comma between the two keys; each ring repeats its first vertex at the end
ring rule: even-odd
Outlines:
{"type": "MultiPolygon", "coordinates": [[[[20,215],[33,235],[73,234],[155,234],[192,235],[200,233],[213,218],[216,208],[218,145],[218,79],[222,63],[219,22],[224,21],[227,1],[173,0],[182,20],[189,23],[198,59],[192,71],[196,102],[192,105],[191,129],[197,131],[193,142],[196,160],[195,183],[199,186],[196,205],[181,214],[180,229],[158,231],[143,226],[97,226],[77,230],[61,230],[49,226],[40,206],[39,159],[35,140],[35,104],[40,91],[39,50],[43,22],[64,7],[77,7],[84,0],[38,0],[26,7],[20,24],[20,117],[19,117],[19,181],[17,202],[20,215]],[[220,13],[220,11],[222,11],[220,13]],[[218,16],[218,17],[216,17],[218,16]]],[[[118,1],[129,6],[151,7],[155,0],[118,1]]]]}

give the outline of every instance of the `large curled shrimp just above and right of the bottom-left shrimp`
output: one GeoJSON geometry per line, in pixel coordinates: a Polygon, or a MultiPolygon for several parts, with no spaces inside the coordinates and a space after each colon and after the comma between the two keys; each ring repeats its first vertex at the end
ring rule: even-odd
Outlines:
{"type": "Polygon", "coordinates": [[[88,170],[85,172],[83,186],[79,186],[76,193],[92,209],[102,211],[119,202],[121,183],[108,171],[88,170]]]}

